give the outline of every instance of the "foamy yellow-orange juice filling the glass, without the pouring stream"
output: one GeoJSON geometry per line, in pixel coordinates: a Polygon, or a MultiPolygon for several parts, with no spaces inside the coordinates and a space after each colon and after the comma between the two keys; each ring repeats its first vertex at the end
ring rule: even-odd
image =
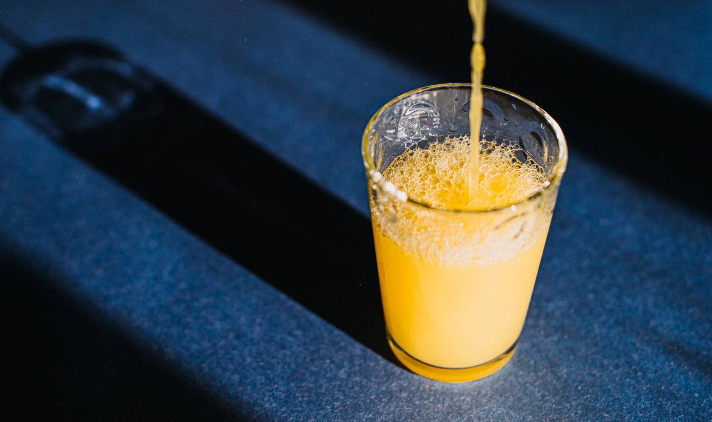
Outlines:
{"type": "Polygon", "coordinates": [[[517,144],[483,138],[476,198],[470,151],[467,135],[407,150],[382,176],[419,204],[385,196],[371,204],[392,349],[441,381],[481,378],[509,359],[550,222],[548,207],[511,212],[545,182],[517,144]]]}

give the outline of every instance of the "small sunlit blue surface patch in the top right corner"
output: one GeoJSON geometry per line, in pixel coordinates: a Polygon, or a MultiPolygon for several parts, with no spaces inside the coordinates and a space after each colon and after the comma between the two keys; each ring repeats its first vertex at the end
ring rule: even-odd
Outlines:
{"type": "Polygon", "coordinates": [[[712,1],[490,3],[592,53],[712,103],[712,1]]]}

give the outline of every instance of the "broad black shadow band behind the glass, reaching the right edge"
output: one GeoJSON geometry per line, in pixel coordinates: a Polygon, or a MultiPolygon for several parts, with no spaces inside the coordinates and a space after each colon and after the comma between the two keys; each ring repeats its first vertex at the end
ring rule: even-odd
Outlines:
{"type": "MultiPolygon", "coordinates": [[[[358,7],[284,1],[429,71],[433,83],[469,81],[472,23],[466,1],[363,0],[358,7]]],[[[712,202],[703,194],[709,189],[712,102],[602,58],[496,5],[488,6],[484,45],[484,83],[542,106],[560,123],[570,150],[712,218],[712,202]]]]}

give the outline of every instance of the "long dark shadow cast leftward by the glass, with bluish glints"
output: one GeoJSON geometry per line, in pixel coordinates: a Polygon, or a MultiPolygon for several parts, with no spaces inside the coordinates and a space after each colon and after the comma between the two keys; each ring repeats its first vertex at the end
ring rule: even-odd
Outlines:
{"type": "Polygon", "coordinates": [[[106,46],[24,51],[0,96],[50,137],[352,338],[386,343],[370,222],[106,46]]]}

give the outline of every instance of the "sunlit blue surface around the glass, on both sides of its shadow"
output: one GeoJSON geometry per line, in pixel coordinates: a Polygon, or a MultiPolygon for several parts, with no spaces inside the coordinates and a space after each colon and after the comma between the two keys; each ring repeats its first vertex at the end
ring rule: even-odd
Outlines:
{"type": "MultiPolygon", "coordinates": [[[[31,42],[112,43],[364,218],[365,123],[397,94],[441,82],[266,1],[134,1],[120,13],[56,1],[23,19],[26,9],[1,4],[0,21],[31,42]]],[[[518,351],[468,384],[390,364],[5,109],[0,253],[33,262],[244,416],[711,418],[710,221],[575,148],[568,169],[518,351]]]]}

